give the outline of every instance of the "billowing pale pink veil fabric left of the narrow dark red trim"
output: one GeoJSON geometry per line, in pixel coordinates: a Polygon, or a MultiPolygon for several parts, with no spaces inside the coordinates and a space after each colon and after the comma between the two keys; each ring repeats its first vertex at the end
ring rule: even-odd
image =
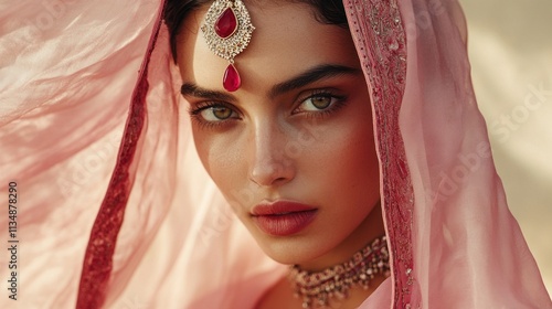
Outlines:
{"type": "MultiPolygon", "coordinates": [[[[8,182],[17,182],[20,241],[18,300],[2,288],[0,308],[75,306],[86,244],[158,7],[0,2],[0,191],[8,196],[8,182]]],[[[3,212],[4,244],[8,221],[3,212]]],[[[152,233],[146,227],[138,234],[152,233]]],[[[1,265],[8,259],[0,255],[1,265]]],[[[1,267],[3,287],[11,270],[1,267]]]]}

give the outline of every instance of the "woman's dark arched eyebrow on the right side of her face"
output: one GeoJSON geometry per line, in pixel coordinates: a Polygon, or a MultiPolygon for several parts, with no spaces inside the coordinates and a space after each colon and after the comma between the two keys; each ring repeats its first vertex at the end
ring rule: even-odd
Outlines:
{"type": "Polygon", "coordinates": [[[339,65],[339,64],[317,65],[295,77],[289,78],[288,81],[275,85],[269,92],[269,97],[276,97],[284,93],[307,86],[308,84],[315,83],[323,78],[335,77],[339,75],[357,75],[361,73],[362,71],[360,68],[354,68],[346,65],[339,65]]]}

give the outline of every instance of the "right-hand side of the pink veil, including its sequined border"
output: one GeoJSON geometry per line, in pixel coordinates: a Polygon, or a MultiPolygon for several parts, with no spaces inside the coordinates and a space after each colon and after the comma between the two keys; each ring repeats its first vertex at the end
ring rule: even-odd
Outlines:
{"type": "Polygon", "coordinates": [[[390,166],[383,183],[400,183],[382,193],[393,308],[552,308],[493,167],[458,3],[359,2],[346,3],[390,166]]]}

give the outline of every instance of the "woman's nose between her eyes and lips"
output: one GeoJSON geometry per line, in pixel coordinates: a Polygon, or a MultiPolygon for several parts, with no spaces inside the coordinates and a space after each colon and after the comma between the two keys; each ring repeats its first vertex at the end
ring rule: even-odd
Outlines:
{"type": "Polygon", "coordinates": [[[261,187],[283,185],[295,178],[295,160],[286,154],[289,132],[277,124],[259,124],[252,132],[250,179],[261,187]]]}

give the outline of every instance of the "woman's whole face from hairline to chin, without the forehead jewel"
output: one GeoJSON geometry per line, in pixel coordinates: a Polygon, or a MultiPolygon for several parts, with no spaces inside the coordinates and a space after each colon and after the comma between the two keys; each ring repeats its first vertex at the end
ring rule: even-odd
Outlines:
{"type": "Polygon", "coordinates": [[[383,233],[367,84],[349,31],[302,3],[250,3],[256,28],[236,56],[242,86],[201,33],[178,36],[178,65],[199,156],[272,258],[326,267],[383,233]]]}

